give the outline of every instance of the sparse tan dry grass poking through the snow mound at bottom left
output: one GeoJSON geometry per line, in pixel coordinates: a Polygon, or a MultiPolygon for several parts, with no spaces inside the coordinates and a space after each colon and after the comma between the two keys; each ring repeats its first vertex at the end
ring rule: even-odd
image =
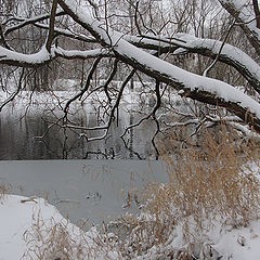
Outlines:
{"type": "Polygon", "coordinates": [[[93,227],[88,233],[67,220],[53,218],[44,221],[40,211],[32,218],[32,225],[24,234],[27,250],[24,260],[86,260],[121,259],[108,235],[101,235],[93,227]]]}

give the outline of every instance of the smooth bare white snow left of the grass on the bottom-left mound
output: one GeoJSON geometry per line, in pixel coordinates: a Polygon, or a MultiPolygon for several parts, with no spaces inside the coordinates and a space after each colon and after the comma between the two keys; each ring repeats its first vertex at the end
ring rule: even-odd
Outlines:
{"type": "Polygon", "coordinates": [[[32,216],[41,211],[44,220],[63,217],[42,198],[22,203],[27,198],[16,195],[8,196],[0,204],[0,260],[17,260],[26,251],[23,235],[31,226],[32,216]]]}

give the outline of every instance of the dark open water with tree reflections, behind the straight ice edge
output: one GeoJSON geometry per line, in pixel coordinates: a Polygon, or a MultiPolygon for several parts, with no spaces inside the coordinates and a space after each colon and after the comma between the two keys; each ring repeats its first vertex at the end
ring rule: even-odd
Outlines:
{"type": "MultiPolygon", "coordinates": [[[[18,114],[15,109],[8,109],[0,115],[0,159],[145,159],[153,153],[151,139],[154,125],[151,121],[130,130],[125,140],[120,139],[125,126],[131,123],[133,117],[136,120],[138,115],[134,114],[120,113],[108,138],[93,142],[79,138],[79,130],[61,129],[57,126],[51,128],[44,139],[37,139],[47,131],[47,120],[42,120],[40,112],[28,113],[24,117],[18,114]]],[[[77,121],[86,120],[86,115],[77,117],[77,121]]],[[[89,113],[88,125],[95,123],[96,116],[89,113]]],[[[88,134],[92,138],[101,132],[88,134]]]]}

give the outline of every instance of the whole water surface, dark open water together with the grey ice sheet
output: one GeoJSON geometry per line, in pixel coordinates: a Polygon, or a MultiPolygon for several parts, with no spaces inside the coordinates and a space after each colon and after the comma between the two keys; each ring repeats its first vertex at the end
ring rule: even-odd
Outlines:
{"type": "MultiPolygon", "coordinates": [[[[129,113],[134,99],[131,93],[127,96],[129,102],[117,112],[108,136],[94,142],[80,139],[79,131],[58,126],[49,129],[61,116],[57,108],[62,96],[66,100],[69,93],[43,93],[42,99],[39,93],[28,105],[29,94],[23,92],[0,114],[0,183],[11,184],[11,193],[44,197],[73,223],[86,222],[88,229],[127,211],[136,212],[144,186],[152,181],[167,181],[162,162],[151,159],[153,121],[144,121],[128,131],[125,140],[120,138],[125,127],[141,117],[129,113]],[[53,100],[55,94],[58,102],[53,100]]],[[[104,110],[96,110],[100,105],[87,104],[83,109],[79,105],[75,105],[77,113],[72,118],[77,123],[104,123],[100,117],[104,110]]],[[[88,132],[89,138],[100,134],[102,131],[88,132]]]]}

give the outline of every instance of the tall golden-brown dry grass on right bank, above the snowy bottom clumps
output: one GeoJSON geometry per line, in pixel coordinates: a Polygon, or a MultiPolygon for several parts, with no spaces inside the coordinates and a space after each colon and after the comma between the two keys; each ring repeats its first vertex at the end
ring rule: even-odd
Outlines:
{"type": "Polygon", "coordinates": [[[147,211],[158,222],[181,223],[184,236],[193,239],[192,231],[198,235],[216,222],[235,227],[259,218],[255,144],[242,142],[222,127],[218,134],[206,131],[200,147],[179,147],[172,155],[170,145],[169,139],[162,150],[170,182],[146,188],[147,211]]]}

